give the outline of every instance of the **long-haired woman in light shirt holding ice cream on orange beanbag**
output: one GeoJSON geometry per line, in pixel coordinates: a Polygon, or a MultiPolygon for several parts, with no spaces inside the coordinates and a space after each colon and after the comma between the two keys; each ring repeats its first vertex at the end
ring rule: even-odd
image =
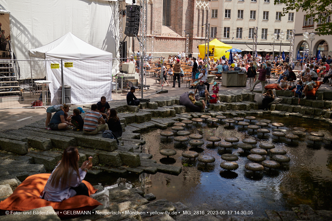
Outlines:
{"type": "Polygon", "coordinates": [[[92,168],[92,163],[87,160],[79,167],[79,159],[76,147],[68,147],[63,151],[61,161],[47,180],[41,195],[42,199],[61,202],[75,195],[89,196],[88,188],[82,180],[92,168]]]}

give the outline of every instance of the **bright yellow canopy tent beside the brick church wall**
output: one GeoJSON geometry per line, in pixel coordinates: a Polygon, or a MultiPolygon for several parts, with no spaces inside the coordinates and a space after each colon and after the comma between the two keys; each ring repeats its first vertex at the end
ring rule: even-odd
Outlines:
{"type": "MultiPolygon", "coordinates": [[[[222,43],[218,39],[213,39],[212,41],[209,42],[209,58],[214,61],[217,59],[221,58],[223,55],[228,59],[229,57],[229,52],[226,52],[227,50],[231,49],[232,46],[222,43]]],[[[200,54],[198,55],[201,58],[204,58],[205,54],[205,44],[200,44],[198,45],[198,50],[200,51],[200,54]]]]}

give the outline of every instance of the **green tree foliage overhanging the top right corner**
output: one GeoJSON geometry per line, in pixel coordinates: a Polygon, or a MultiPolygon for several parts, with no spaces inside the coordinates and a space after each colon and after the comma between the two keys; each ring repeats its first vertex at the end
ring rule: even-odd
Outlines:
{"type": "Polygon", "coordinates": [[[313,17],[313,21],[320,25],[317,26],[315,31],[318,35],[331,35],[332,34],[332,23],[327,22],[327,16],[332,15],[332,2],[329,0],[275,0],[274,4],[284,4],[282,16],[287,16],[289,11],[302,10],[307,12],[306,18],[313,17]],[[326,12],[326,14],[324,14],[326,12]]]}

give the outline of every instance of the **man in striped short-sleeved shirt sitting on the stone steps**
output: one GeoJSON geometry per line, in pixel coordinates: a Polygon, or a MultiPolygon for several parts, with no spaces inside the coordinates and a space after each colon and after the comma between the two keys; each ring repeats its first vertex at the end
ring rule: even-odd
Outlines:
{"type": "Polygon", "coordinates": [[[95,135],[102,130],[109,130],[101,113],[97,111],[97,104],[91,105],[91,111],[86,111],[84,118],[84,134],[95,135]]]}

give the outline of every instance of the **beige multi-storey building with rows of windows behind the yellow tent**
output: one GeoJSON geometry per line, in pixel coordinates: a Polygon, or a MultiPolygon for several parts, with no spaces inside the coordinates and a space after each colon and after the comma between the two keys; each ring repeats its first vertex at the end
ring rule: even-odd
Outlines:
{"type": "MultiPolygon", "coordinates": [[[[211,0],[210,40],[217,38],[233,48],[250,51],[253,47],[254,27],[257,31],[257,51],[272,54],[273,33],[284,32],[281,51],[288,52],[290,30],[294,28],[295,12],[280,16],[283,5],[274,0],[211,0]]],[[[280,41],[275,41],[279,54],[280,41]]],[[[265,54],[264,53],[264,54],[265,54]]]]}

